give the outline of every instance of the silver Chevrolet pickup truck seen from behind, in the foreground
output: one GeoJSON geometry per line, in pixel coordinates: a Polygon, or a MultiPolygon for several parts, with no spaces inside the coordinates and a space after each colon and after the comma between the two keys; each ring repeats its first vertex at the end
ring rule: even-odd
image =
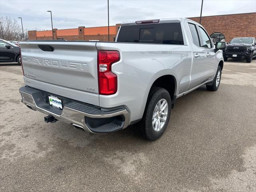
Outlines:
{"type": "Polygon", "coordinates": [[[164,133],[175,100],[220,86],[225,42],[186,18],[122,23],[116,42],[21,42],[22,103],[91,133],[136,123],[142,136],[164,133]]]}

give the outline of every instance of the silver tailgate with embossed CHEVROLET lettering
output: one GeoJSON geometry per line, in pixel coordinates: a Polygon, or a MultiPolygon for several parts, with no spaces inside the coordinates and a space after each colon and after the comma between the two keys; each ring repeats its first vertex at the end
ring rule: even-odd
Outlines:
{"type": "Polygon", "coordinates": [[[22,42],[26,85],[98,105],[96,42],[22,42]]]}

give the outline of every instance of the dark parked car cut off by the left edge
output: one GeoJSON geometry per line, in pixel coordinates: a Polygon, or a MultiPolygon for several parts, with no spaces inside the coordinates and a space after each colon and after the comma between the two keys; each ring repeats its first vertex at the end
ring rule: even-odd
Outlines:
{"type": "Polygon", "coordinates": [[[20,47],[0,39],[0,62],[18,62],[20,64],[20,47]]]}

